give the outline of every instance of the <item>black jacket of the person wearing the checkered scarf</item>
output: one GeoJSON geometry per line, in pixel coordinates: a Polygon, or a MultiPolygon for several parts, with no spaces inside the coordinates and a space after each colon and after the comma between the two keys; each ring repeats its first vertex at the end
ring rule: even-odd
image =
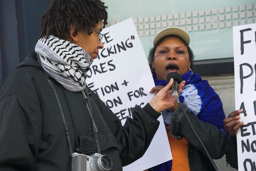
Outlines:
{"type": "MultiPolygon", "coordinates": [[[[0,92],[0,170],[68,171],[71,156],[60,109],[44,71],[32,57],[26,57],[15,68],[0,92]]],[[[93,123],[82,93],[68,91],[56,81],[55,85],[73,150],[77,142],[81,153],[97,152],[93,123]]],[[[149,104],[137,106],[133,119],[128,118],[122,126],[91,93],[102,154],[111,157],[113,170],[122,170],[122,166],[143,156],[159,126],[160,113],[149,104]]]]}

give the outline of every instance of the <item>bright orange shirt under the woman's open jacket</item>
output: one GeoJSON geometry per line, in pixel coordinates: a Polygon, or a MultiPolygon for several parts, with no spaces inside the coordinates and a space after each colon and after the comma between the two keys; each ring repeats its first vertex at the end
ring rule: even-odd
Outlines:
{"type": "MultiPolygon", "coordinates": [[[[170,126],[167,127],[169,130],[170,126]]],[[[188,147],[189,143],[183,137],[177,140],[167,131],[170,147],[172,149],[172,171],[189,171],[188,147]]]]}

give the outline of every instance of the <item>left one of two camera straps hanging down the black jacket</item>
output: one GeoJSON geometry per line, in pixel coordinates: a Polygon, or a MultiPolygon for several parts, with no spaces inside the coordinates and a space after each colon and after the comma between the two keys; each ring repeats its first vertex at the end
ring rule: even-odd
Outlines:
{"type": "Polygon", "coordinates": [[[44,71],[44,74],[45,74],[45,77],[47,78],[47,81],[48,81],[49,85],[51,85],[51,87],[52,87],[52,89],[54,91],[54,94],[56,96],[56,99],[57,99],[57,102],[58,102],[58,106],[59,106],[60,111],[61,111],[61,117],[62,117],[62,120],[63,120],[63,123],[64,123],[65,133],[67,135],[67,141],[68,141],[68,144],[69,144],[69,147],[70,147],[70,154],[73,154],[72,146],[71,146],[71,143],[70,143],[70,135],[69,135],[68,127],[67,127],[67,121],[65,120],[65,117],[64,117],[64,114],[63,114],[63,110],[61,108],[61,103],[60,103],[60,100],[58,98],[58,94],[56,92],[54,80],[45,71],[44,71]]]}

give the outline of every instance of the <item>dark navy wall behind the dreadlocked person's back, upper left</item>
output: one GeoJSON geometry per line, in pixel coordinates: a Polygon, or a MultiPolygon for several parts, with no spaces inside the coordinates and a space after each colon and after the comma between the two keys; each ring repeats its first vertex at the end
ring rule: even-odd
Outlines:
{"type": "Polygon", "coordinates": [[[51,0],[0,0],[0,88],[12,70],[34,51],[41,15],[51,0]]]}

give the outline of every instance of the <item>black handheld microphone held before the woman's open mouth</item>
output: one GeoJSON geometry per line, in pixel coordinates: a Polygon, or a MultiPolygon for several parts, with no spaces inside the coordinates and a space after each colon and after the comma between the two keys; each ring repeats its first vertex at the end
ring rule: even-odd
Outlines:
{"type": "Polygon", "coordinates": [[[174,82],[172,84],[172,92],[174,94],[174,97],[175,97],[177,103],[180,103],[179,93],[178,93],[178,85],[182,82],[182,77],[177,72],[170,72],[166,77],[166,84],[168,84],[170,82],[171,78],[173,78],[173,80],[174,80],[174,82]]]}

